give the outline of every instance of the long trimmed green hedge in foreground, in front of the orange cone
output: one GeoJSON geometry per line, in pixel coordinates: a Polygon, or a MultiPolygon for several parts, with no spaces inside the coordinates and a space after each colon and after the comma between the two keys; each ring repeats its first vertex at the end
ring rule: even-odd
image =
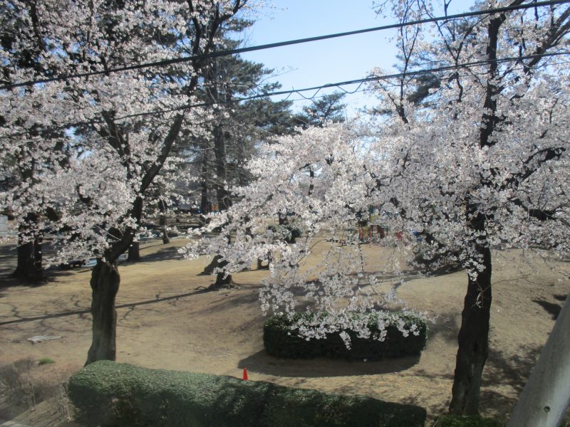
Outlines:
{"type": "Polygon", "coordinates": [[[108,361],[73,375],[68,395],[78,421],[101,426],[420,427],[426,416],[418,406],[363,396],[108,361]]]}

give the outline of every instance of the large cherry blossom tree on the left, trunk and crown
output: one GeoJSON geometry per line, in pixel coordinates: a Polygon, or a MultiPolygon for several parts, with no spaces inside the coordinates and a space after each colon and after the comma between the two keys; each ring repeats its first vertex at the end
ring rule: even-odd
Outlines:
{"type": "MultiPolygon", "coordinates": [[[[168,72],[129,67],[180,56],[181,46],[194,56],[208,53],[224,23],[246,6],[247,0],[3,2],[4,28],[17,31],[0,50],[0,144],[6,156],[33,164],[34,174],[4,191],[2,203],[21,225],[30,213],[57,211],[57,221],[43,224],[58,231],[53,262],[97,258],[87,363],[115,359],[117,260],[140,231],[157,174],[175,161],[182,128],[199,137],[209,119],[192,107],[204,59],[170,64],[168,72]],[[74,73],[83,77],[16,85],[74,73]]],[[[3,175],[13,172],[2,167],[3,175]]]]}

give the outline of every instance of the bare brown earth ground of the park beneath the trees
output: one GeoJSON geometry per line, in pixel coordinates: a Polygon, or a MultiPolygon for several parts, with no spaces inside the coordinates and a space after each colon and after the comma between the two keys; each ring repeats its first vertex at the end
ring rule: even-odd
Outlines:
{"type": "MultiPolygon", "coordinates": [[[[261,340],[264,317],[257,295],[266,271],[234,275],[237,289],[203,292],[212,277],[197,274],[209,259],[181,259],[177,246],[184,243],[182,239],[169,245],[144,243],[142,262],[121,265],[118,362],[237,377],[247,368],[252,380],[417,404],[427,408],[430,419],[445,412],[467,287],[465,272],[409,278],[398,288],[410,307],[437,315],[419,359],[276,359],[265,354],[261,340]]],[[[45,285],[21,285],[7,278],[14,268],[13,249],[0,249],[0,364],[51,357],[55,364],[36,367],[34,372],[51,373],[63,381],[83,366],[90,345],[90,270],[50,270],[45,285]],[[26,341],[36,335],[62,338],[38,344],[26,341]]],[[[368,245],[365,251],[369,270],[385,269],[390,249],[368,245]]],[[[558,280],[559,271],[570,273],[570,264],[547,254],[546,258],[523,257],[521,251],[497,251],[493,268],[491,350],[481,408],[485,416],[506,418],[570,292],[569,280],[558,280]]],[[[18,412],[13,405],[16,413],[9,414],[7,397],[4,390],[0,424],[18,412]]],[[[28,426],[76,426],[62,419],[53,405],[44,402],[14,421],[28,426]]]]}

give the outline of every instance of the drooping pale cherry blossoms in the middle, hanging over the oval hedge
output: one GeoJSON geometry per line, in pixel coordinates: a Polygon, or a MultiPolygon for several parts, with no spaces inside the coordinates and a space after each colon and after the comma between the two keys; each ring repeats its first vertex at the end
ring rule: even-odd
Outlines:
{"type": "MultiPolygon", "coordinates": [[[[226,274],[258,259],[269,262],[261,308],[289,315],[310,312],[313,317],[295,324],[307,339],[336,332],[350,346],[346,330],[371,336],[368,317],[362,315],[371,312],[380,320],[375,338],[384,339],[393,320],[387,307],[424,315],[408,309],[393,290],[382,290],[376,272],[366,271],[358,226],[368,220],[376,153],[368,152],[366,138],[348,125],[329,122],[298,132],[261,147],[259,157],[249,162],[257,179],[234,188],[234,204],[198,233],[222,231],[190,243],[185,253],[218,254],[224,260],[219,271],[226,274]],[[287,221],[275,225],[280,218],[287,221]],[[322,253],[316,265],[308,262],[314,251],[322,253]]],[[[417,325],[397,326],[406,335],[419,333],[417,325]]]]}

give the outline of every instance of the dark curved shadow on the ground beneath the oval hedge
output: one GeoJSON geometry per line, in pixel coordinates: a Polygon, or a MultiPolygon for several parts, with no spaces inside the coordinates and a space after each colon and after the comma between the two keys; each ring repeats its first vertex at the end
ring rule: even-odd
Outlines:
{"type": "Polygon", "coordinates": [[[239,369],[274,376],[354,376],[390,374],[405,371],[420,362],[419,356],[383,359],[374,362],[347,361],[343,359],[283,359],[261,350],[239,361],[239,369]]]}

